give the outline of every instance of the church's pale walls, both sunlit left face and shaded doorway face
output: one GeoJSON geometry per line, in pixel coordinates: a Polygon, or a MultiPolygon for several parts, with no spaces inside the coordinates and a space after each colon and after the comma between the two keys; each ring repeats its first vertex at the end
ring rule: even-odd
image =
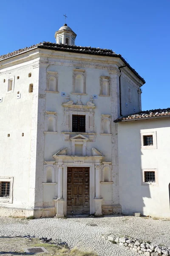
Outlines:
{"type": "MultiPolygon", "coordinates": [[[[94,141],[87,142],[86,150],[89,153],[92,148],[97,148],[104,154],[102,161],[110,162],[108,165],[111,165],[110,183],[102,182],[102,170],[100,171],[100,195],[103,198],[103,212],[120,212],[118,131],[117,124],[113,122],[120,115],[120,71],[118,67],[123,63],[118,61],[120,61],[118,58],[46,49],[35,49],[29,53],[1,61],[0,97],[3,97],[3,101],[0,102],[2,110],[0,121],[3,125],[1,125],[0,135],[3,139],[0,149],[2,152],[0,154],[2,163],[0,176],[14,177],[12,204],[0,202],[2,207],[34,209],[36,217],[51,216],[56,213],[54,199],[57,198],[58,193],[58,167],[53,155],[65,147],[71,150],[72,146],[71,140],[65,141],[62,133],[64,122],[62,103],[66,102],[62,93],[69,95],[69,100],[72,100],[74,104],[77,102],[77,94],[73,93],[73,75],[79,70],[78,73],[82,73],[85,78],[83,81],[85,89],[82,94],[80,93],[82,104],[86,105],[90,101],[90,97],[96,95],[94,99],[96,108],[92,110],[94,111],[96,131],[94,132],[94,141]],[[31,73],[31,77],[28,77],[28,73],[31,73]],[[54,76],[54,80],[57,80],[57,91],[48,91],[49,76],[54,76]],[[110,87],[108,94],[110,95],[101,95],[101,77],[107,78],[110,87]],[[9,78],[14,78],[14,91],[11,93],[7,93],[9,78]],[[6,79],[5,83],[3,83],[3,79],[6,79]],[[33,84],[33,93],[28,92],[29,84],[33,84]],[[19,92],[20,99],[17,99],[17,92],[19,92]],[[47,131],[48,116],[55,119],[55,128],[52,132],[47,131]],[[102,133],[101,120],[105,118],[111,122],[110,134],[102,133]],[[23,137],[22,133],[24,133],[23,137]],[[7,134],[10,134],[10,137],[7,137],[7,134]],[[53,182],[50,184],[45,180],[47,166],[54,168],[53,182]]],[[[126,68],[126,75],[123,76],[128,76],[129,72],[129,83],[136,84],[136,88],[139,87],[140,83],[137,82],[134,74],[127,71],[126,68]]],[[[123,101],[126,101],[127,91],[127,84],[122,82],[123,101]]],[[[136,93],[132,93],[131,101],[135,102],[136,106],[139,105],[140,108],[140,99],[136,98],[136,93]]],[[[131,113],[131,107],[127,109],[131,113]]],[[[70,137],[74,135],[76,133],[70,134],[70,137]]],[[[89,134],[86,135],[89,136],[89,134]]],[[[90,165],[93,178],[91,213],[94,213],[93,197],[96,186],[94,162],[91,162],[90,165]]],[[[103,165],[103,163],[101,164],[103,165]]],[[[82,166],[85,166],[85,163],[82,166]]],[[[64,168],[66,170],[66,167],[64,168]]],[[[63,185],[65,185],[64,182],[63,185]]],[[[65,189],[66,186],[63,186],[63,195],[66,195],[65,189]]]]}

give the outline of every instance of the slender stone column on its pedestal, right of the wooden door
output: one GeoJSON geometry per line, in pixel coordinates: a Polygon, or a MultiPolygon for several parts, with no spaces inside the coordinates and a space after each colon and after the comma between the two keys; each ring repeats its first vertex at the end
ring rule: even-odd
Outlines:
{"type": "Polygon", "coordinates": [[[100,164],[96,164],[96,196],[94,198],[95,201],[95,215],[100,216],[102,215],[102,198],[100,196],[100,171],[101,166],[100,164]]]}

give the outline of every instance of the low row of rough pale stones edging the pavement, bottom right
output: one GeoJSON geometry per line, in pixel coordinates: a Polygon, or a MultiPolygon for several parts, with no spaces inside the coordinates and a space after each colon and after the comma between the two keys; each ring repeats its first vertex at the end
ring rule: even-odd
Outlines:
{"type": "Polygon", "coordinates": [[[113,234],[106,236],[106,238],[113,244],[123,245],[127,249],[135,250],[146,256],[170,256],[170,247],[159,246],[158,244],[134,238],[119,237],[113,234]]]}

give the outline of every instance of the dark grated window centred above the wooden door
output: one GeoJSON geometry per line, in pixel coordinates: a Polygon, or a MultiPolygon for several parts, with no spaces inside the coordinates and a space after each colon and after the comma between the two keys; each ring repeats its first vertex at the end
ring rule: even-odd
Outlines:
{"type": "Polygon", "coordinates": [[[85,132],[85,115],[73,115],[72,116],[72,131],[73,132],[85,132]]]}

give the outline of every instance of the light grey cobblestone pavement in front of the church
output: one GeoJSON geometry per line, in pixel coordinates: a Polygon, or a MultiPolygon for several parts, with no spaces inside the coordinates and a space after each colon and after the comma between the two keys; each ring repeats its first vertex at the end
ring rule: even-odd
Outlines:
{"type": "Polygon", "coordinates": [[[170,246],[170,220],[133,216],[104,218],[42,218],[34,220],[0,218],[0,236],[45,236],[65,241],[69,247],[94,251],[99,256],[137,256],[102,238],[113,233],[170,246]],[[96,224],[91,226],[91,224],[96,224]]]}

